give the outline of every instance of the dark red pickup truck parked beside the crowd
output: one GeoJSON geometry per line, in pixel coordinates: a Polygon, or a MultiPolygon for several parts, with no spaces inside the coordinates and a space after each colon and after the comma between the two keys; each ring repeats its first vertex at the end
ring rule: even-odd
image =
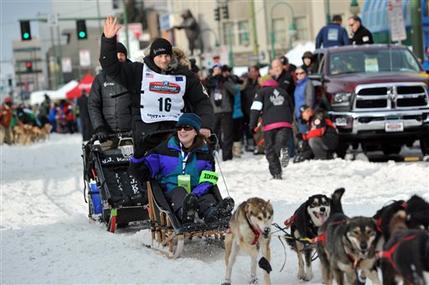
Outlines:
{"type": "Polygon", "coordinates": [[[319,49],[313,70],[318,102],[340,134],[340,157],[350,145],[388,155],[417,140],[429,154],[429,77],[407,47],[319,49]]]}

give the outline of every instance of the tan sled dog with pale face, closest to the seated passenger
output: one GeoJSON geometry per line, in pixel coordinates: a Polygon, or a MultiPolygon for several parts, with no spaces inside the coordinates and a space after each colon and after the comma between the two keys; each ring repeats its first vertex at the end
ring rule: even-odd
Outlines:
{"type": "Polygon", "coordinates": [[[270,232],[273,220],[273,207],[270,201],[250,198],[241,203],[232,214],[229,229],[225,235],[225,281],[231,284],[232,266],[240,250],[251,257],[250,283],[257,283],[256,265],[259,249],[262,258],[259,266],[265,270],[264,284],[271,284],[269,264],[271,259],[270,232]]]}

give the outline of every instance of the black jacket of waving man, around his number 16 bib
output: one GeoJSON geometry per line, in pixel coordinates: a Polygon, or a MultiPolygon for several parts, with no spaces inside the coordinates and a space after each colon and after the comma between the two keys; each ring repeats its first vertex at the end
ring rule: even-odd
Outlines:
{"type": "MultiPolygon", "coordinates": [[[[141,121],[140,92],[143,63],[120,63],[116,57],[116,37],[108,39],[103,35],[101,39],[100,64],[108,75],[128,89],[131,96],[132,119],[141,121]]],[[[147,64],[151,70],[157,73],[163,73],[149,57],[144,58],[144,64],[147,64]]],[[[213,129],[213,108],[207,92],[195,74],[185,66],[178,66],[168,71],[167,74],[186,76],[184,111],[198,114],[201,117],[202,128],[213,129]]],[[[162,123],[171,125],[171,122],[161,122],[160,124],[162,123]]]]}

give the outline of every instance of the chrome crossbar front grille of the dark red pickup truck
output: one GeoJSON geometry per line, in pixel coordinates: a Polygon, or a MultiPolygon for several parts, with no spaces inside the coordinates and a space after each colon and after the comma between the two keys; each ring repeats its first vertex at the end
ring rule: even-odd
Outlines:
{"type": "Polygon", "coordinates": [[[422,83],[370,84],[356,87],[354,109],[410,109],[428,105],[428,94],[422,83]]]}

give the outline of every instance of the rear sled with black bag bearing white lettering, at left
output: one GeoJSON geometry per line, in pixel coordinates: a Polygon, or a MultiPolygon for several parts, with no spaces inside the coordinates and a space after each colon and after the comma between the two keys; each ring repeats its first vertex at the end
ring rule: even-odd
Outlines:
{"type": "Polygon", "coordinates": [[[82,148],[88,217],[112,233],[131,222],[148,227],[146,189],[128,172],[130,133],[112,134],[105,143],[94,136],[82,148]]]}

